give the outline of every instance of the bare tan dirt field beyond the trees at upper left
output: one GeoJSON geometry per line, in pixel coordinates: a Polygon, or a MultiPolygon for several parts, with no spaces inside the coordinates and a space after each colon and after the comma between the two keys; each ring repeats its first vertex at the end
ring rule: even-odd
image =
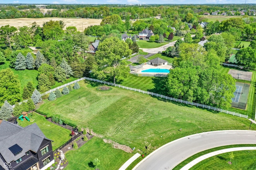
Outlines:
{"type": "Polygon", "coordinates": [[[78,31],[82,31],[90,25],[100,25],[101,19],[79,19],[79,18],[15,18],[15,19],[0,19],[0,27],[10,25],[14,27],[22,27],[24,25],[31,26],[34,21],[42,26],[49,20],[62,20],[66,23],[66,27],[75,26],[78,31]]]}

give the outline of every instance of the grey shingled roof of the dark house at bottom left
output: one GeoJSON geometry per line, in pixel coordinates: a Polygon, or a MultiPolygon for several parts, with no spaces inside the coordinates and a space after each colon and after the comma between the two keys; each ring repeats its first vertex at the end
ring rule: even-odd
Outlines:
{"type": "MultiPolygon", "coordinates": [[[[18,160],[28,150],[37,152],[44,139],[51,141],[44,136],[44,133],[42,133],[36,123],[27,127],[20,127],[8,121],[2,121],[0,124],[0,154],[5,162],[18,160]],[[16,155],[9,149],[15,144],[22,148],[22,152],[16,155]]],[[[4,167],[2,161],[0,161],[0,165],[4,167]]]]}

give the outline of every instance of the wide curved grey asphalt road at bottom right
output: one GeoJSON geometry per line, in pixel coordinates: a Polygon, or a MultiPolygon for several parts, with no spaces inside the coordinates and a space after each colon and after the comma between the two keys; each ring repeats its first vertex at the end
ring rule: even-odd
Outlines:
{"type": "Polygon", "coordinates": [[[186,136],[155,150],[133,170],[170,170],[186,158],[203,150],[236,144],[256,144],[256,131],[211,131],[186,136]]]}

